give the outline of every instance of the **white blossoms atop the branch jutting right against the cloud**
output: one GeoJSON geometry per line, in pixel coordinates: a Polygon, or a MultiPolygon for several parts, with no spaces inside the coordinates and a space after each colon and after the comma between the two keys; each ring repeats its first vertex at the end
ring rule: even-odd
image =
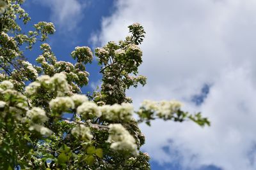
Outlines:
{"type": "Polygon", "coordinates": [[[142,107],[145,110],[156,112],[156,115],[159,118],[164,118],[164,119],[172,118],[173,113],[177,113],[177,111],[180,110],[181,106],[182,106],[182,103],[180,103],[179,101],[156,102],[156,101],[145,100],[142,103],[142,107]]]}

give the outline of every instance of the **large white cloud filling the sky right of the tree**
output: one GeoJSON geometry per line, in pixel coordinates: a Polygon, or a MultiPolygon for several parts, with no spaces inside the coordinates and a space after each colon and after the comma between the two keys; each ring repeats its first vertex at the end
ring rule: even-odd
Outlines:
{"type": "Polygon", "coordinates": [[[212,122],[204,129],[189,122],[142,125],[144,149],[152,159],[175,160],[161,150],[170,145],[180,153],[184,168],[214,164],[225,170],[255,169],[256,1],[119,0],[116,6],[102,22],[100,43],[123,39],[133,22],[147,32],[140,73],[148,84],[129,90],[134,104],[175,98],[212,122]],[[202,106],[191,104],[189,99],[205,83],[212,85],[207,99],[202,106]]]}

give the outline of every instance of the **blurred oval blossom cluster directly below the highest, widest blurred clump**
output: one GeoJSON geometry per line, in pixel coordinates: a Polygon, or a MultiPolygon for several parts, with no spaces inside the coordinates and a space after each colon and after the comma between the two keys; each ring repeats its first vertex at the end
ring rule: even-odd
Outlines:
{"type": "Polygon", "coordinates": [[[49,106],[54,111],[68,111],[70,108],[75,108],[75,104],[70,97],[56,97],[56,99],[50,101],[49,106]]]}

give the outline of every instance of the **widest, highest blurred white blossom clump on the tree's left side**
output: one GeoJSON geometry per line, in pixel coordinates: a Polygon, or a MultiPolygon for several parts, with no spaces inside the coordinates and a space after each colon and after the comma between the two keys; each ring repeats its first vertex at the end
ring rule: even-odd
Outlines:
{"type": "Polygon", "coordinates": [[[36,94],[38,88],[43,87],[46,90],[57,92],[57,96],[64,96],[65,92],[70,90],[66,79],[67,76],[64,73],[56,73],[52,77],[47,75],[40,76],[36,81],[30,83],[25,90],[29,96],[32,96],[36,94]]]}

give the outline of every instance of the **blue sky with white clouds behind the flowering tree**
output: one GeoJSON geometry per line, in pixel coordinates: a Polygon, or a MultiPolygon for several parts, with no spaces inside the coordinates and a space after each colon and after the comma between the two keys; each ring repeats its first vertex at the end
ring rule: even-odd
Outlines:
{"type": "MultiPolygon", "coordinates": [[[[152,169],[256,169],[256,1],[30,0],[24,8],[31,24],[54,22],[48,43],[59,60],[72,61],[76,46],[124,39],[134,22],[145,27],[139,73],[148,81],[127,92],[134,107],[143,99],[177,99],[183,110],[211,121],[204,128],[161,120],[140,125],[152,169]]],[[[38,54],[28,52],[29,61],[38,54]]],[[[97,62],[86,68],[83,91],[100,85],[97,62]]]]}

